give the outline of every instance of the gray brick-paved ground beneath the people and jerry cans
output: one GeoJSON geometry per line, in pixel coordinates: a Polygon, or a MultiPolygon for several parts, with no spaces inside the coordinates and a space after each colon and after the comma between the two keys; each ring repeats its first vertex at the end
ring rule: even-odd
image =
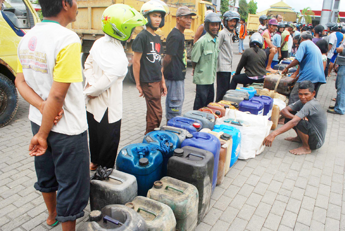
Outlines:
{"type": "MultiPolygon", "coordinates": [[[[240,56],[234,56],[236,68],[240,56]]],[[[195,97],[190,72],[189,67],[183,112],[192,109],[195,97]]],[[[320,88],[318,99],[325,110],[336,95],[333,78],[320,88]]],[[[135,85],[127,80],[123,96],[120,148],[142,140],[146,113],[145,100],[138,98],[135,85]]],[[[27,151],[32,137],[28,108],[20,98],[15,118],[0,129],[0,230],[61,230],[61,225],[53,229],[45,225],[47,210],[33,187],[36,175],[34,158],[27,151]]],[[[239,160],[216,187],[212,206],[197,231],[345,230],[345,116],[327,114],[327,120],[325,144],[310,155],[288,152],[298,145],[284,140],[294,135],[290,131],[256,158],[239,160]]],[[[87,220],[89,211],[88,206],[78,224],[87,220]]]]}

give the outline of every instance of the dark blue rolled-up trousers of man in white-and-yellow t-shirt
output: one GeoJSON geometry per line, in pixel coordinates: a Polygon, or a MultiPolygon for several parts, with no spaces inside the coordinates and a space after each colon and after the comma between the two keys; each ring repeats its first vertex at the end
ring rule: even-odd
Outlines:
{"type": "MultiPolygon", "coordinates": [[[[31,126],[35,135],[39,126],[33,122],[31,126]]],[[[58,191],[56,220],[74,221],[84,216],[90,194],[87,131],[78,135],[50,132],[47,142],[45,154],[35,157],[34,187],[42,193],[58,191]]]]}

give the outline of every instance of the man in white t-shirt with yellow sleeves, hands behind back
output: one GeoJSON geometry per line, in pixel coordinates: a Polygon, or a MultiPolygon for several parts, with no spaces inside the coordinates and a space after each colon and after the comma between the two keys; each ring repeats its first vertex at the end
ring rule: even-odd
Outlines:
{"type": "Polygon", "coordinates": [[[62,222],[63,231],[70,231],[84,216],[90,192],[81,43],[66,28],[75,21],[78,7],[76,0],[39,3],[44,20],[18,45],[15,84],[30,103],[34,137],[29,154],[35,157],[34,187],[47,206],[47,225],[62,222]]]}

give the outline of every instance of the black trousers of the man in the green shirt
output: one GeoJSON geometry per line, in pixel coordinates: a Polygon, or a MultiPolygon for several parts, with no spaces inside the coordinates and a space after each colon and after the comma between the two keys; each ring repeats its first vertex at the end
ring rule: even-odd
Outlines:
{"type": "Polygon", "coordinates": [[[198,110],[206,107],[208,103],[213,102],[214,87],[212,84],[200,85],[197,84],[197,93],[195,94],[193,110],[198,110]]]}

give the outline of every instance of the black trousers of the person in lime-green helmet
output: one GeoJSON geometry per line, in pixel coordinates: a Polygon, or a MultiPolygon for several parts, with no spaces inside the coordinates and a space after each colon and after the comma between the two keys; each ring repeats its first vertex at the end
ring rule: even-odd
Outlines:
{"type": "Polygon", "coordinates": [[[105,111],[100,123],[90,112],[86,115],[89,125],[91,162],[102,167],[113,168],[120,142],[121,120],[109,124],[108,110],[105,111]]]}

